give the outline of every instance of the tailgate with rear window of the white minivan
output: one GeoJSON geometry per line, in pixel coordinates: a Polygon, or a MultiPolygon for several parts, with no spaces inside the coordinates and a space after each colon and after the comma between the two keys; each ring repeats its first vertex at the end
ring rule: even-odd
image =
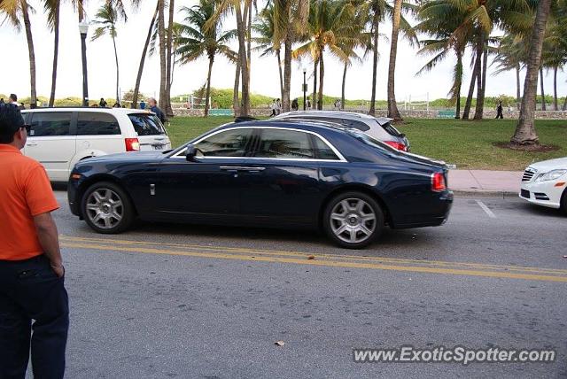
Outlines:
{"type": "Polygon", "coordinates": [[[129,113],[128,119],[136,131],[140,150],[171,149],[171,142],[167,136],[166,128],[153,113],[129,113]]]}

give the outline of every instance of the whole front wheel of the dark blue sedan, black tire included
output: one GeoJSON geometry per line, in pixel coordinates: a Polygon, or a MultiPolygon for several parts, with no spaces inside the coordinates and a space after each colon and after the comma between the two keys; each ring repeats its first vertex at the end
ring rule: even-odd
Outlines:
{"type": "Polygon", "coordinates": [[[136,216],[128,194],[113,182],[92,184],[82,196],[81,211],[89,227],[102,234],[123,232],[136,216]]]}

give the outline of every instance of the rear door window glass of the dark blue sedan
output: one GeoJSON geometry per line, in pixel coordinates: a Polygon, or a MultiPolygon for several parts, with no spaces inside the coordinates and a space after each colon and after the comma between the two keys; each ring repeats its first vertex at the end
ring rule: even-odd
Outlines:
{"type": "Polygon", "coordinates": [[[254,157],[279,159],[314,159],[315,151],[304,132],[283,129],[264,129],[260,146],[254,157]]]}

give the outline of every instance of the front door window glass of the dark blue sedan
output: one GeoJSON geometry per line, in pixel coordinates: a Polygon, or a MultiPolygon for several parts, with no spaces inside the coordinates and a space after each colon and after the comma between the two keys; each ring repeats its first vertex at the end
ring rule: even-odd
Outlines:
{"type": "Polygon", "coordinates": [[[206,137],[195,147],[205,157],[244,157],[252,129],[230,129],[206,137]]]}

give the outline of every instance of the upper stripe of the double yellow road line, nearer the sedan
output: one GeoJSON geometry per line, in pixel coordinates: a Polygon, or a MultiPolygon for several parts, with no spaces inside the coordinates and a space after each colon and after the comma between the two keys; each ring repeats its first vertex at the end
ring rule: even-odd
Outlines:
{"type": "Polygon", "coordinates": [[[144,242],[144,241],[128,241],[113,238],[91,238],[91,237],[76,237],[76,236],[60,236],[62,241],[69,242],[89,242],[89,243],[102,243],[102,244],[126,244],[126,245],[151,245],[151,246],[167,246],[173,248],[182,248],[190,250],[206,250],[206,251],[220,251],[220,252],[236,252],[236,253],[251,253],[257,255],[276,255],[276,256],[291,256],[291,257],[304,257],[315,256],[318,259],[345,259],[345,260],[362,260],[370,262],[387,262],[395,264],[411,264],[411,265],[426,265],[426,266],[440,266],[440,267],[461,267],[473,269],[488,269],[488,270],[506,270],[524,273],[535,274],[558,274],[567,275],[567,270],[555,268],[542,268],[542,267],[517,267],[517,266],[502,266],[491,265],[483,263],[469,263],[469,262],[450,262],[442,260],[420,260],[420,259],[397,259],[389,257],[368,257],[361,255],[344,255],[344,254],[319,254],[319,253],[306,253],[299,251],[277,251],[277,250],[264,250],[264,249],[246,249],[238,247],[227,246],[207,246],[198,244],[174,244],[174,243],[157,243],[157,242],[144,242]]]}

